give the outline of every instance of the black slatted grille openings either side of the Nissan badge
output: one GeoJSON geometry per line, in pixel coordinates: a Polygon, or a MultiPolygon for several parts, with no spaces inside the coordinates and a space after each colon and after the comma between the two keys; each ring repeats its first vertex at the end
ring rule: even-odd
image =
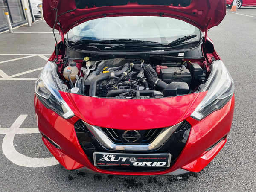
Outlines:
{"type": "MultiPolygon", "coordinates": [[[[157,135],[162,131],[163,128],[157,129],[147,129],[143,135],[143,140],[141,144],[149,144],[157,137],[157,135]]],[[[102,128],[102,131],[108,136],[108,138],[116,144],[123,144],[121,137],[119,136],[119,131],[117,129],[102,128]]]]}

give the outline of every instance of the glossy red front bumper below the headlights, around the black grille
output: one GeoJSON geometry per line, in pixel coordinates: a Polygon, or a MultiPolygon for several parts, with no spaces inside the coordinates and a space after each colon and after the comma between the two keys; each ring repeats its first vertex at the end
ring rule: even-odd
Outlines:
{"type": "Polygon", "coordinates": [[[36,96],[35,113],[39,131],[43,134],[44,144],[66,169],[108,175],[179,175],[190,171],[201,171],[225,145],[232,124],[234,104],[233,96],[221,110],[215,111],[201,121],[190,116],[182,119],[191,125],[186,145],[168,169],[151,172],[99,169],[93,165],[79,144],[74,129],[74,124],[79,120],[79,116],[65,120],[45,108],[36,96]],[[53,141],[59,148],[49,141],[53,141]],[[218,144],[216,145],[216,143],[218,144]],[[212,146],[214,147],[207,151],[212,146]]]}

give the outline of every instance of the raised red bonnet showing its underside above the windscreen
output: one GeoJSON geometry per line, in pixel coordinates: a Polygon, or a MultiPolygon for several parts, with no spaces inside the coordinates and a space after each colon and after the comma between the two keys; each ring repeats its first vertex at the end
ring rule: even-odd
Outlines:
{"type": "Polygon", "coordinates": [[[44,19],[67,33],[73,27],[101,17],[159,16],[183,20],[206,32],[226,15],[225,0],[44,0],[44,19]]]}

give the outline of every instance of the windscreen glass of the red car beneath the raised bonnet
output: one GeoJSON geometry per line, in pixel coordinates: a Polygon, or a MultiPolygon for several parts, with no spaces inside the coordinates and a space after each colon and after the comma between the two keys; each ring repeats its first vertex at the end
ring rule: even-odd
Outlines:
{"type": "MultiPolygon", "coordinates": [[[[170,43],[177,38],[197,35],[201,31],[182,20],[157,16],[105,17],[81,23],[68,32],[69,41],[132,39],[170,43]]],[[[188,42],[189,42],[188,41],[188,42]]]]}

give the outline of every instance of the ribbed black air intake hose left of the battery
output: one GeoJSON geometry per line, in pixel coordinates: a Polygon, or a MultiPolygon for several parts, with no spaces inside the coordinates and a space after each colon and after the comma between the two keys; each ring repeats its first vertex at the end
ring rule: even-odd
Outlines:
{"type": "Polygon", "coordinates": [[[157,87],[160,90],[164,90],[167,87],[168,84],[157,77],[156,71],[150,64],[145,65],[144,72],[148,82],[151,83],[154,87],[157,87]]]}

